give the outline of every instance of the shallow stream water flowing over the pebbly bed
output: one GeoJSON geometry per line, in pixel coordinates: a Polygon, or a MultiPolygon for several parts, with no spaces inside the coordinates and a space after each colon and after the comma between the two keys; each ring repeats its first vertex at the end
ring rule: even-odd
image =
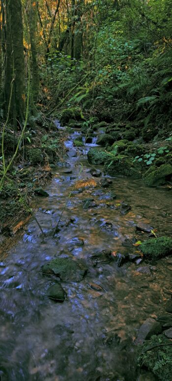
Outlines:
{"type": "MultiPolygon", "coordinates": [[[[132,342],[147,317],[164,312],[172,294],[171,257],[148,264],[149,274],[137,272],[145,262],[118,267],[114,261],[94,267],[89,258],[104,249],[130,251],[122,246],[127,238],[147,238],[146,233],[136,232],[141,221],[160,235],[170,235],[172,201],[168,188],[147,188],[142,180],[115,177],[106,189],[96,178],[95,188],[72,192],[62,216],[67,223],[52,237],[81,165],[80,179],[91,178],[85,156],[91,144],[76,149],[72,141],[78,134],[71,134],[65,143],[70,168],[57,168],[46,187],[49,197],[35,202],[36,218],[47,237],[34,220],[30,221],[21,242],[0,263],[2,381],[137,380],[132,342]],[[99,200],[102,193],[110,191],[115,191],[115,200],[99,200]],[[99,206],[84,209],[86,198],[93,198],[99,206]],[[113,204],[122,201],[131,205],[126,215],[113,209],[113,204]],[[88,268],[82,281],[61,283],[67,293],[62,304],[45,297],[56,279],[40,271],[46,261],[57,256],[82,259],[88,268]]],[[[96,139],[92,144],[96,146],[96,139]]]]}

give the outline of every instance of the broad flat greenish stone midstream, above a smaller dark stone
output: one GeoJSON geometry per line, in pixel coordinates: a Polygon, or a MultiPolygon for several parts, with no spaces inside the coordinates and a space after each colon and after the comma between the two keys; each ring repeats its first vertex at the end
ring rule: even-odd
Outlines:
{"type": "Polygon", "coordinates": [[[56,258],[42,266],[42,272],[47,275],[56,275],[61,280],[81,280],[87,269],[81,262],[69,258],[56,258]]]}

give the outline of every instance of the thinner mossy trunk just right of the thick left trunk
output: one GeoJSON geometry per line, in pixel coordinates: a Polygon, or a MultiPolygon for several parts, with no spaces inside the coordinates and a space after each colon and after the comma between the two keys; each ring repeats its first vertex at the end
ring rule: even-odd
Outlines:
{"type": "Polygon", "coordinates": [[[36,102],[39,94],[39,71],[37,64],[37,47],[36,47],[36,31],[37,31],[37,11],[36,2],[31,1],[29,13],[29,29],[30,29],[30,45],[31,45],[31,95],[32,101],[36,102]]]}

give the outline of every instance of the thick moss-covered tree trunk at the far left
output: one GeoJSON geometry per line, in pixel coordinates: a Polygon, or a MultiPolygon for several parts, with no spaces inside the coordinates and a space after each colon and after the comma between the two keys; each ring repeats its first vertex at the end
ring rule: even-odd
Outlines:
{"type": "Polygon", "coordinates": [[[10,118],[17,125],[25,117],[25,65],[23,46],[23,21],[21,0],[5,0],[6,10],[6,70],[5,70],[5,111],[7,114],[11,92],[11,81],[14,80],[13,96],[10,107],[10,118]]]}

